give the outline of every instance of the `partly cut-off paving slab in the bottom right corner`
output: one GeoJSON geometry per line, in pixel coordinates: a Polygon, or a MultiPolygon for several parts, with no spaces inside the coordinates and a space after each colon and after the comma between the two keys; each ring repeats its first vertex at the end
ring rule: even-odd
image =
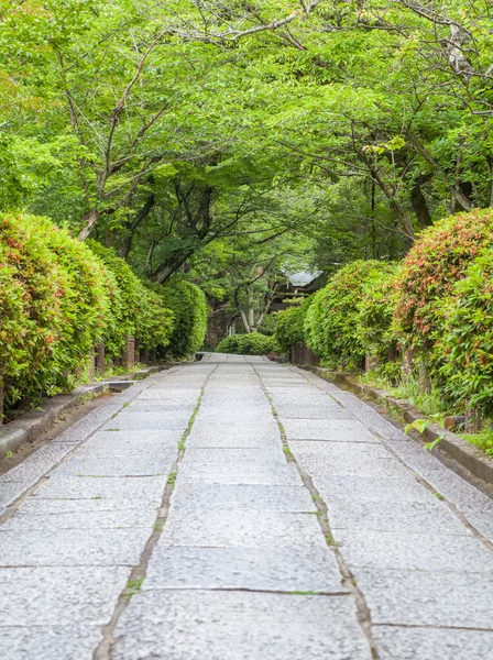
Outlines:
{"type": "Polygon", "coordinates": [[[493,657],[493,632],[450,628],[375,626],[380,660],[486,660],[493,657]]]}

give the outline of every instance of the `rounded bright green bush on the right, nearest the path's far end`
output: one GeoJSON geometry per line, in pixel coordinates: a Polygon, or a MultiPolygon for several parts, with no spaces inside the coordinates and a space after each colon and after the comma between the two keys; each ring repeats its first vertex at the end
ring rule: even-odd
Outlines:
{"type": "Polygon", "coordinates": [[[360,366],[365,345],[360,331],[360,302],[364,285],[388,264],[357,261],[343,268],[314,295],[306,315],[304,332],[308,346],[328,366],[360,366]]]}

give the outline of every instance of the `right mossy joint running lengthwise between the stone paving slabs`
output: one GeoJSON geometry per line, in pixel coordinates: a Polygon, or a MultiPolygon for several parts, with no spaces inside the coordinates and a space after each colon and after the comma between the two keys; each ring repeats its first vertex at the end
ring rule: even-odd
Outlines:
{"type": "Polygon", "coordinates": [[[260,381],[262,391],[269,402],[269,405],[271,406],[272,409],[272,414],[274,416],[274,419],[277,422],[277,426],[280,428],[280,433],[281,433],[281,440],[283,442],[283,450],[284,453],[286,454],[286,459],[294,463],[294,465],[296,465],[296,469],[299,473],[299,476],[302,477],[303,484],[306,488],[308,488],[310,495],[311,495],[311,499],[314,501],[315,506],[317,507],[317,519],[318,522],[320,525],[321,531],[324,534],[324,537],[326,539],[327,544],[329,546],[329,548],[331,550],[335,551],[336,553],[336,558],[339,564],[339,571],[342,575],[342,583],[344,586],[348,587],[349,590],[349,594],[353,596],[354,601],[355,601],[355,605],[357,605],[357,610],[358,610],[358,622],[363,630],[364,636],[368,639],[368,642],[370,645],[370,649],[371,649],[371,653],[372,653],[372,658],[374,660],[379,660],[379,652],[376,650],[376,645],[374,642],[373,639],[373,634],[372,634],[372,619],[371,619],[371,613],[370,613],[370,608],[366,604],[366,601],[364,598],[364,595],[362,593],[362,591],[359,588],[354,575],[352,574],[351,570],[348,568],[348,565],[346,564],[342,553],[339,550],[338,544],[335,542],[333,537],[332,537],[332,532],[330,529],[330,524],[329,524],[329,516],[328,516],[328,509],[327,509],[327,505],[324,502],[324,498],[321,497],[321,495],[319,494],[318,490],[315,487],[314,482],[311,480],[311,477],[306,474],[303,469],[300,468],[300,465],[298,464],[298,462],[296,461],[295,455],[293,454],[293,452],[291,451],[289,448],[289,443],[287,441],[286,438],[286,432],[284,430],[284,427],[280,420],[277,410],[275,409],[274,403],[271,398],[271,395],[269,394],[263,381],[262,381],[262,376],[259,374],[259,372],[256,371],[255,366],[253,366],[253,371],[255,372],[256,377],[260,381]]]}

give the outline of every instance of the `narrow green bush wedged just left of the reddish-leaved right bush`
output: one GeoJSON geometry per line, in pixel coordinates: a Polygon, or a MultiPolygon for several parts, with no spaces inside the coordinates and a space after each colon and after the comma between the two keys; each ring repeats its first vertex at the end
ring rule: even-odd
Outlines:
{"type": "Polygon", "coordinates": [[[381,263],[379,268],[369,271],[363,282],[358,301],[358,333],[364,352],[386,362],[396,348],[392,329],[395,311],[396,264],[381,263]]]}

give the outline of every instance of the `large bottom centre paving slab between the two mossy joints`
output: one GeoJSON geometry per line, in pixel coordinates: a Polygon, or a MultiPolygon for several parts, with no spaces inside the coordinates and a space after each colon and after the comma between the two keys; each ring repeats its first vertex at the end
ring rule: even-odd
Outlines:
{"type": "Polygon", "coordinates": [[[371,659],[347,596],[150,591],[116,638],[114,660],[371,659]]]}

